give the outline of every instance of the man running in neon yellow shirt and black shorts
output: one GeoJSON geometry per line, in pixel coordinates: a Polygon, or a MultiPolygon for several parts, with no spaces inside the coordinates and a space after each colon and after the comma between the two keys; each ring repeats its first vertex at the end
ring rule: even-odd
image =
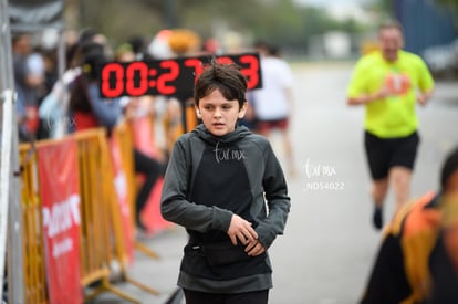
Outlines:
{"type": "Polygon", "coordinates": [[[397,210],[409,198],[419,144],[416,105],[426,105],[434,81],[419,56],[402,50],[399,23],[383,24],[378,41],[379,50],[356,63],[347,104],[366,109],[364,144],[372,177],[373,224],[382,229],[388,187],[393,187],[397,210]]]}

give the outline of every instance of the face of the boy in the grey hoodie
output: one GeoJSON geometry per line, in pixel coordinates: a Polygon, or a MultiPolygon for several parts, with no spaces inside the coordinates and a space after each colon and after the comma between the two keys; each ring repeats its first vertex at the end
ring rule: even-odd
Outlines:
{"type": "Polygon", "coordinates": [[[237,99],[228,101],[219,90],[199,101],[197,116],[215,136],[223,136],[236,129],[237,119],[243,118],[247,112],[247,103],[239,108],[237,99]]]}

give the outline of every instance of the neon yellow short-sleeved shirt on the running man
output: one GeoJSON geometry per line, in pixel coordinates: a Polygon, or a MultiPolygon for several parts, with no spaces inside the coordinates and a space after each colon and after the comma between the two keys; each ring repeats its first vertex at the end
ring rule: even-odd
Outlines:
{"type": "Polygon", "coordinates": [[[417,91],[429,92],[434,87],[428,67],[419,56],[406,51],[398,51],[396,62],[387,62],[379,51],[374,51],[356,63],[347,96],[375,94],[384,85],[391,95],[365,105],[365,129],[382,138],[410,135],[418,127],[417,91]]]}

